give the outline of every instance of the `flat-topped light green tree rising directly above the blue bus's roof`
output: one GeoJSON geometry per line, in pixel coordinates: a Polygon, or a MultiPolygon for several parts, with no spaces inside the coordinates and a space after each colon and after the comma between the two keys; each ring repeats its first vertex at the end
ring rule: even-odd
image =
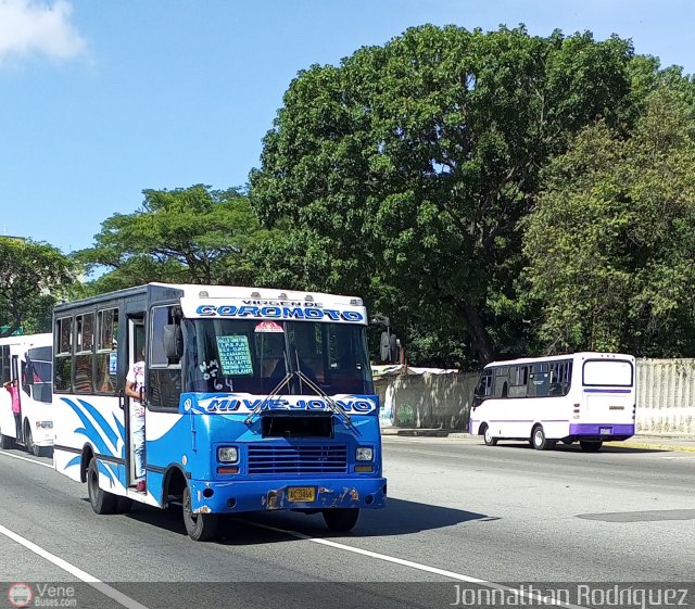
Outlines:
{"type": "Polygon", "coordinates": [[[108,269],[92,291],[149,281],[243,284],[255,279],[250,255],[268,232],[237,189],[197,185],[143,194],[140,210],[104,220],[94,245],[76,253],[90,268],[108,269]]]}

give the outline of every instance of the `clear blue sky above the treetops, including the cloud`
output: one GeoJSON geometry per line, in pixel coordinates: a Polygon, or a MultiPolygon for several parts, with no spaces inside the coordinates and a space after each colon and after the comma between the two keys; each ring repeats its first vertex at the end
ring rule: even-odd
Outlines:
{"type": "Polygon", "coordinates": [[[142,190],[243,186],[298,71],[409,26],[616,33],[695,72],[687,0],[0,0],[0,232],[88,248],[142,190]]]}

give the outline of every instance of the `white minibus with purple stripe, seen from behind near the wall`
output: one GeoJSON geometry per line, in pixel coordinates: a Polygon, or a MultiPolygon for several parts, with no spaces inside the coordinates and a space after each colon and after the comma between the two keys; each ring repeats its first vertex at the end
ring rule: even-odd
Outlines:
{"type": "Polygon", "coordinates": [[[635,416],[634,357],[576,353],[485,366],[469,431],[489,446],[528,440],[545,451],[561,441],[596,452],[634,435],[635,416]]]}

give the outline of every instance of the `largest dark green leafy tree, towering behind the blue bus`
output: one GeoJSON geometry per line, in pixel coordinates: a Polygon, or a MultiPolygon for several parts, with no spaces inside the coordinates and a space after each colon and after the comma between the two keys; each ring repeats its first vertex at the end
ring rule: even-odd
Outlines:
{"type": "Polygon", "coordinates": [[[420,361],[519,348],[519,219],[576,132],[630,118],[632,59],[617,37],[424,26],[312,66],[251,173],[262,219],[288,224],[267,255],[296,283],[364,293],[420,361]]]}

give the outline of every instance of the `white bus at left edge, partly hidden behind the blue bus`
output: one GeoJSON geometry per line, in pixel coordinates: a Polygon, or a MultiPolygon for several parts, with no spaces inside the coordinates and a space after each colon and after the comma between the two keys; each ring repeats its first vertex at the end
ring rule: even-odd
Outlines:
{"type": "Polygon", "coordinates": [[[51,404],[52,335],[22,334],[0,339],[0,448],[23,446],[37,457],[53,446],[51,404]],[[20,436],[5,382],[17,381],[20,436]]]}

